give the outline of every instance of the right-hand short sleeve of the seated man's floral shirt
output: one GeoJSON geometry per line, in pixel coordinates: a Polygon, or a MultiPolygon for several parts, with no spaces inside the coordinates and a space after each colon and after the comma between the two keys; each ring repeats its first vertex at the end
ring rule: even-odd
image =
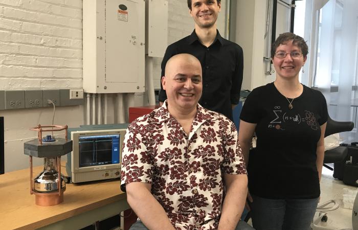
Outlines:
{"type": "Polygon", "coordinates": [[[247,174],[238,134],[233,122],[227,127],[226,142],[224,145],[223,171],[227,174],[247,174]]]}

